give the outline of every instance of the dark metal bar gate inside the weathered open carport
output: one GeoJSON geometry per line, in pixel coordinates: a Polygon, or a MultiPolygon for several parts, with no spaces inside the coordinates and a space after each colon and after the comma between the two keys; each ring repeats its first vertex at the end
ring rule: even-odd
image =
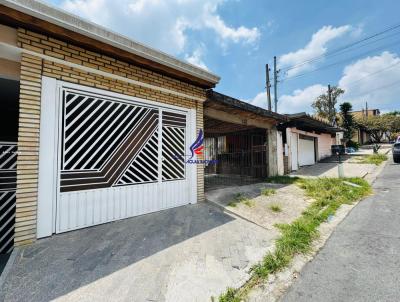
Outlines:
{"type": "Polygon", "coordinates": [[[205,187],[243,185],[267,177],[267,140],[265,134],[244,131],[206,137],[205,187]]]}

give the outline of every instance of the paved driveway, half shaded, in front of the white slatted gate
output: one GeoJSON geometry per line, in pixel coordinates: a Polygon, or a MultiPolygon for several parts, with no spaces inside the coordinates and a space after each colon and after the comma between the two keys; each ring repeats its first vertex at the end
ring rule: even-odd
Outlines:
{"type": "Polygon", "coordinates": [[[209,301],[274,236],[204,203],[69,232],[21,249],[0,301],[209,301]]]}

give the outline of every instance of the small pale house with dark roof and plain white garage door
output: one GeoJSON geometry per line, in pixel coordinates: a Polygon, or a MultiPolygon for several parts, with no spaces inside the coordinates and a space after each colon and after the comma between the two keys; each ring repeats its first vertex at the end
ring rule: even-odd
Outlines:
{"type": "Polygon", "coordinates": [[[296,171],[332,155],[331,146],[338,144],[342,129],[305,112],[288,114],[288,122],[278,129],[283,132],[284,170],[296,171]]]}

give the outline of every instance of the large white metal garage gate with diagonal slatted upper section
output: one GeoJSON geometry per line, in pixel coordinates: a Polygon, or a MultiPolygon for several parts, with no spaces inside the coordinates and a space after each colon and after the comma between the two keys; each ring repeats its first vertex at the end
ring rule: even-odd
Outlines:
{"type": "Polygon", "coordinates": [[[196,202],[192,111],[63,82],[56,94],[53,232],[196,202]]]}

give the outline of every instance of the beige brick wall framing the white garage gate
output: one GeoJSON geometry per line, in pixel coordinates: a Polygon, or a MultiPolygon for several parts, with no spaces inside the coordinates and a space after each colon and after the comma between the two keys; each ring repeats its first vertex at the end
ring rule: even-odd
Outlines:
{"type": "MultiPolygon", "coordinates": [[[[154,86],[174,90],[187,95],[206,98],[205,90],[175,80],[168,76],[116,60],[100,53],[85,50],[51,37],[18,29],[18,46],[36,53],[107,72],[124,78],[145,82],[154,86]]],[[[112,77],[90,73],[79,68],[42,60],[26,55],[21,60],[20,124],[18,148],[21,152],[17,162],[17,216],[16,245],[27,244],[36,238],[36,208],[39,163],[39,122],[41,76],[105,89],[143,99],[154,100],[197,111],[197,129],[203,128],[203,103],[158,90],[116,80],[112,77]]],[[[204,200],[204,171],[197,167],[198,200],[204,200]]]]}

